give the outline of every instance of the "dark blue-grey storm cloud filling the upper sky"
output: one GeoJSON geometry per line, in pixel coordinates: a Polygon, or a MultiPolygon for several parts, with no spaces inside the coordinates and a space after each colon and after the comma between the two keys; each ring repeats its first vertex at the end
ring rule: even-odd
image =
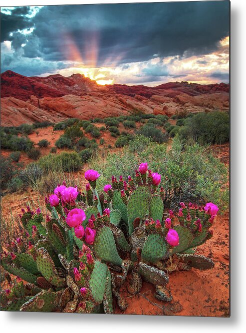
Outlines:
{"type": "Polygon", "coordinates": [[[14,50],[25,44],[24,57],[66,61],[73,60],[68,52],[72,40],[85,65],[92,65],[96,54],[99,66],[109,57],[111,61],[121,57],[122,64],[145,61],[154,54],[200,55],[217,49],[218,41],[229,34],[229,5],[229,1],[51,5],[32,18],[25,16],[29,7],[17,7],[11,15],[1,14],[1,41],[10,40],[14,50]],[[29,35],[17,33],[30,27],[34,30],[29,35]]]}

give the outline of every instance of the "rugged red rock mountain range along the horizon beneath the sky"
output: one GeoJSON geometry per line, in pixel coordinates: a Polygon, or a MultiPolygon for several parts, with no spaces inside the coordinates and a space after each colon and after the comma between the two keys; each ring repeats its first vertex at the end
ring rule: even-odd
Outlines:
{"type": "Polygon", "coordinates": [[[0,75],[1,126],[66,118],[145,113],[171,116],[183,111],[229,109],[229,84],[170,82],[156,87],[98,85],[81,74],[26,77],[7,70],[0,75]]]}

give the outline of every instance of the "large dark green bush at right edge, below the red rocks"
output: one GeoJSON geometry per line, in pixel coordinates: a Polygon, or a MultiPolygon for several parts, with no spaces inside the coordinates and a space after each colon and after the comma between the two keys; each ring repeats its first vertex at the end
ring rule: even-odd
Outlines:
{"type": "Polygon", "coordinates": [[[230,119],[224,112],[199,113],[188,118],[180,129],[181,140],[192,139],[200,144],[222,144],[229,141],[230,119]]]}

